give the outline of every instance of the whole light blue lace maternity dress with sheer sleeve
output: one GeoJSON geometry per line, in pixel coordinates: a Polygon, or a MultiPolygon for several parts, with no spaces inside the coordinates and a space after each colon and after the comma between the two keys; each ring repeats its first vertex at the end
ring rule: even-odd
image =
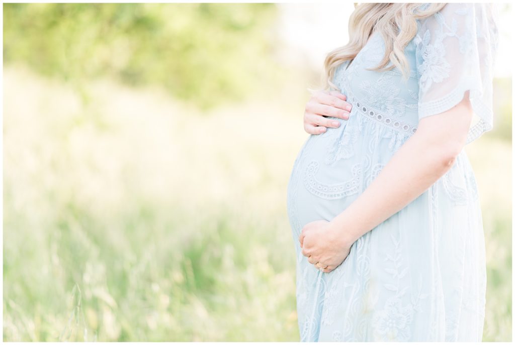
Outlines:
{"type": "Polygon", "coordinates": [[[417,25],[405,48],[407,81],[397,68],[367,70],[383,57],[379,33],[350,64],[338,66],[333,82],[353,105],[350,118],[308,137],[295,160],[287,210],[301,341],[482,339],[485,243],[465,151],[431,188],[354,242],[330,273],[310,264],[299,244],[306,223],[331,221],[347,208],[421,118],[449,110],[466,90],[477,115],[467,143],[492,128],[496,8],[449,3],[417,25]]]}

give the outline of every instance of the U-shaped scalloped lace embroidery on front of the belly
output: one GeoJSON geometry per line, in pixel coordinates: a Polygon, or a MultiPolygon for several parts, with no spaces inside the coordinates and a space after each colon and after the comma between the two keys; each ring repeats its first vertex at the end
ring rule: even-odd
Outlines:
{"type": "Polygon", "coordinates": [[[345,196],[356,194],[359,191],[361,180],[361,164],[352,167],[352,178],[348,181],[324,185],[317,178],[316,174],[320,168],[320,162],[313,160],[307,165],[304,174],[304,185],[308,191],[323,199],[339,199],[345,196]]]}

